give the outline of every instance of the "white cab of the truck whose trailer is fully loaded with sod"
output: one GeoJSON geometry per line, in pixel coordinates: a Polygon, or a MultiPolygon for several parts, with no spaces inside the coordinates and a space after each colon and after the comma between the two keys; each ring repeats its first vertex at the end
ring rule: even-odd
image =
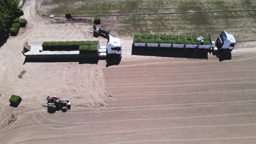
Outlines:
{"type": "Polygon", "coordinates": [[[236,39],[234,35],[229,34],[225,31],[220,33],[218,39],[216,40],[216,46],[218,50],[223,52],[231,52],[236,45],[236,39]]]}

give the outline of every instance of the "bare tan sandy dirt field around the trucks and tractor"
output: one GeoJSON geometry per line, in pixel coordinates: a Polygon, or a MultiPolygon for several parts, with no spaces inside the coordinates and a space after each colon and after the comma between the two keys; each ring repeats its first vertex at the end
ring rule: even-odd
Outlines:
{"type": "Polygon", "coordinates": [[[25,2],[27,27],[0,49],[1,144],[255,143],[255,41],[238,43],[223,62],[131,56],[132,38],[123,37],[121,63],[108,68],[104,61],[23,64],[25,41],[95,39],[90,20],[42,18],[41,2],[25,2]],[[22,97],[16,108],[11,94],[22,97]],[[47,95],[71,100],[71,110],[47,113],[47,95]]]}

